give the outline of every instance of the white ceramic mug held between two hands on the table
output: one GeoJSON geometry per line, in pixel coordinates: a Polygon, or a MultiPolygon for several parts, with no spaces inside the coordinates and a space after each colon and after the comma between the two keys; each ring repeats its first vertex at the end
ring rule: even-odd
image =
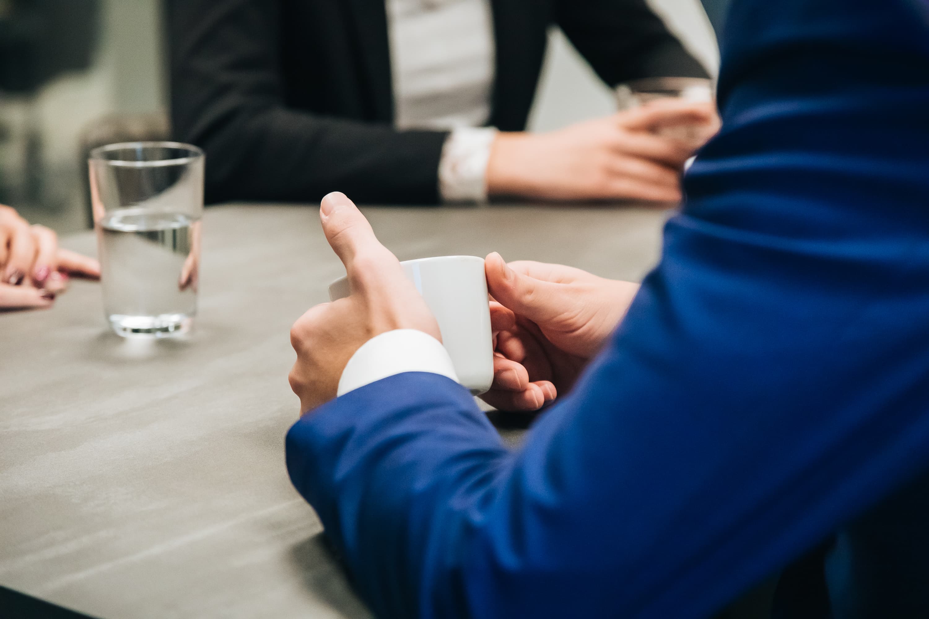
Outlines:
{"type": "MultiPolygon", "coordinates": [[[[458,380],[475,395],[486,392],[493,381],[493,337],[484,259],[439,256],[400,265],[436,316],[458,380]]],[[[349,292],[347,277],[329,286],[331,301],[349,292]]]]}

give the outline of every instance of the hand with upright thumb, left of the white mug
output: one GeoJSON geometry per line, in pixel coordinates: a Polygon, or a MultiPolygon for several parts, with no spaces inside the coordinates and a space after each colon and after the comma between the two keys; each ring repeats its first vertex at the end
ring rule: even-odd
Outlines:
{"type": "Polygon", "coordinates": [[[301,414],[335,397],[348,359],[374,336],[419,329],[441,342],[435,316],[355,204],[345,194],[331,193],[322,199],[320,219],[346,266],[351,294],[311,308],[291,329],[297,359],[290,384],[301,414]]]}

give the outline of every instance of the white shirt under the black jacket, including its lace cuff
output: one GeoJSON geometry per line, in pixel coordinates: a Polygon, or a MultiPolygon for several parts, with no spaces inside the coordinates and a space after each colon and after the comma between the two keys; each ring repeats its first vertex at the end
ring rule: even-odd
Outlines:
{"type": "Polygon", "coordinates": [[[386,0],[398,129],[451,129],[438,165],[445,201],[487,200],[496,129],[489,0],[386,0]]]}

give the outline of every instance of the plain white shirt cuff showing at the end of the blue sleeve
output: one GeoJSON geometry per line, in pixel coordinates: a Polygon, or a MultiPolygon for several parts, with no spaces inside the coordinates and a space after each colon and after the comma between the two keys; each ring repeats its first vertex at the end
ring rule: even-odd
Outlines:
{"type": "Polygon", "coordinates": [[[458,382],[442,342],[416,329],[395,329],[364,342],[348,359],[337,395],[403,372],[432,372],[458,382]]]}

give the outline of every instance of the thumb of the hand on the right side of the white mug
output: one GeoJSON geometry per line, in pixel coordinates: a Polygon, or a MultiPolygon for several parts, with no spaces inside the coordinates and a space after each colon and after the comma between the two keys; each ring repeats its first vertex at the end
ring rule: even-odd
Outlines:
{"type": "Polygon", "coordinates": [[[491,296],[517,316],[537,325],[550,324],[569,311],[573,303],[565,286],[517,273],[494,251],[484,261],[487,288],[491,296]]]}

